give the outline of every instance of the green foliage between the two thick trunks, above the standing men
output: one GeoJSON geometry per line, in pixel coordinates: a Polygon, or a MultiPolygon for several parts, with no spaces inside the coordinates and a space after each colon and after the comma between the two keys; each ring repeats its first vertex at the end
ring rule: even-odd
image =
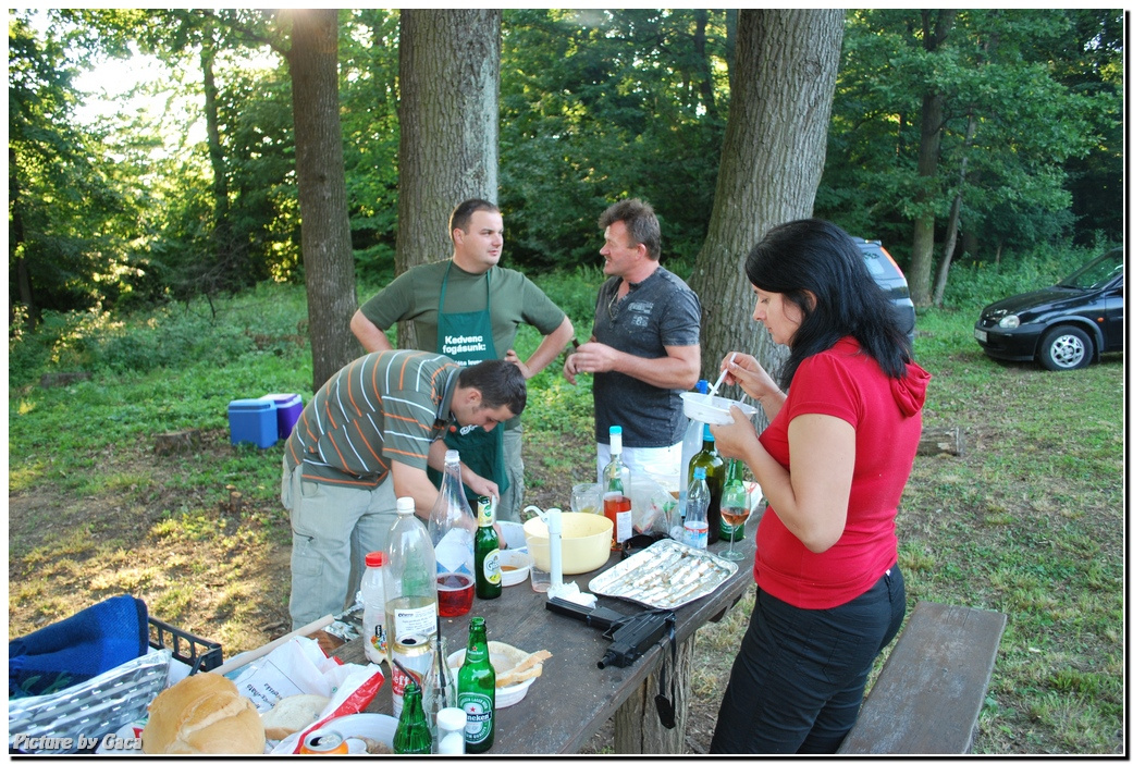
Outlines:
{"type": "Polygon", "coordinates": [[[666,256],[707,229],[727,111],[724,11],[508,10],[500,203],[529,269],[595,262],[597,218],[649,201],[666,256]]]}

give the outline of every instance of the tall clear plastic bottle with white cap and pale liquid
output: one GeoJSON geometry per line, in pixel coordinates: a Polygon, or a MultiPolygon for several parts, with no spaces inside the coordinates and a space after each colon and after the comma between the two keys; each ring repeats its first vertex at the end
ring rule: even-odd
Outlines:
{"type": "Polygon", "coordinates": [[[428,673],[437,625],[436,557],[428,528],[414,513],[414,500],[398,499],[398,519],[390,528],[382,566],[385,585],[385,628],[391,663],[401,661],[418,676],[392,667],[393,708],[401,712],[406,686],[428,673]]]}

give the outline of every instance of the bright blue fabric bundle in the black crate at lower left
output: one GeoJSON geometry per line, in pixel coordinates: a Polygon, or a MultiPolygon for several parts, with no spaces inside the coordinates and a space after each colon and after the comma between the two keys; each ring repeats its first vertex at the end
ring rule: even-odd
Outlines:
{"type": "Polygon", "coordinates": [[[128,594],[8,643],[8,697],[48,695],[146,654],[145,603],[128,594]]]}

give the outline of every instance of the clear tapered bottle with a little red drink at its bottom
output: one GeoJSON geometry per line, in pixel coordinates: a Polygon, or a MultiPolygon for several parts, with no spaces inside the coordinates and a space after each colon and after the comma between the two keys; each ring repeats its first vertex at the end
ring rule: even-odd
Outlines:
{"type": "Polygon", "coordinates": [[[428,535],[436,553],[437,602],[445,618],[463,616],[472,608],[476,516],[460,481],[460,452],[444,455],[441,492],[429,512],[428,535]]]}

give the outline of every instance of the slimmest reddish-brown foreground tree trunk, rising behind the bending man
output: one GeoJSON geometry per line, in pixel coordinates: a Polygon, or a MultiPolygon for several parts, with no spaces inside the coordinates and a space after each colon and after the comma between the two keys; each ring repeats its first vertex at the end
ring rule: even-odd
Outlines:
{"type": "Polygon", "coordinates": [[[314,390],[358,355],[350,317],[358,307],[339,121],[339,12],[291,11],[295,171],[303,218],[303,265],[314,390]]]}

